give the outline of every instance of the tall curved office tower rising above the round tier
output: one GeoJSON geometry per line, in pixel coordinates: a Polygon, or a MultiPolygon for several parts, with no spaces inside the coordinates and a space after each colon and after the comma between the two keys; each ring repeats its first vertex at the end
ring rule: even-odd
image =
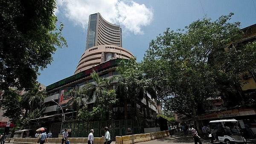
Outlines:
{"type": "Polygon", "coordinates": [[[100,13],[96,13],[89,16],[85,50],[99,45],[122,47],[122,29],[119,25],[104,20],[100,13]]]}

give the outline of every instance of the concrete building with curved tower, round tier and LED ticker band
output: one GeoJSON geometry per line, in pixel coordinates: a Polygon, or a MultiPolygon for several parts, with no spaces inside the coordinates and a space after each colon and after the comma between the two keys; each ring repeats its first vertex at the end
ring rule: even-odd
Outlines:
{"type": "MultiPolygon", "coordinates": [[[[120,26],[107,22],[99,13],[91,14],[88,23],[86,49],[81,55],[74,75],[47,86],[48,97],[44,99],[46,105],[44,113],[47,116],[32,121],[35,123],[47,121],[43,122],[40,127],[49,128],[53,134],[52,137],[58,137],[58,133],[63,128],[70,130],[70,137],[87,137],[88,131],[92,128],[94,129],[94,137],[101,137],[104,135],[104,127],[109,126],[109,124],[114,126],[111,130],[111,137],[143,133],[144,131],[159,131],[158,128],[152,126],[154,118],[156,118],[157,113],[161,112],[161,108],[148,104],[151,96],[146,92],[143,94],[142,101],[137,102],[134,108],[130,106],[129,115],[124,115],[124,104],[111,105],[109,108],[112,109],[114,120],[109,121],[78,121],[76,109],[70,109],[70,106],[66,105],[71,98],[69,95],[71,89],[79,91],[84,84],[93,82],[90,76],[93,70],[102,78],[119,75],[116,72],[119,62],[131,57],[134,55],[122,48],[120,26]],[[134,109],[138,110],[136,120],[132,118],[134,115],[131,115],[130,112],[134,109]],[[144,127],[145,124],[146,127],[144,127]]],[[[115,84],[113,83],[109,89],[115,89],[115,84]]],[[[95,100],[87,103],[89,109],[93,108],[94,102],[95,100]]]]}

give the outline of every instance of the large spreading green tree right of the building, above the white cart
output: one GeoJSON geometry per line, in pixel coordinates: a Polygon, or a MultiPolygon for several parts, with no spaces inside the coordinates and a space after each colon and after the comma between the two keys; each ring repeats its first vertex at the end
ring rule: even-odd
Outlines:
{"type": "Polygon", "coordinates": [[[255,68],[252,55],[256,47],[249,43],[224,52],[230,42],[242,37],[240,23],[228,22],[232,15],[215,21],[204,17],[176,32],[167,28],[151,41],[142,69],[163,107],[191,116],[192,107],[196,114],[207,111],[209,97],[229,99],[230,106],[240,101],[234,86],[241,86],[240,72],[247,71],[248,66],[255,68]]]}

